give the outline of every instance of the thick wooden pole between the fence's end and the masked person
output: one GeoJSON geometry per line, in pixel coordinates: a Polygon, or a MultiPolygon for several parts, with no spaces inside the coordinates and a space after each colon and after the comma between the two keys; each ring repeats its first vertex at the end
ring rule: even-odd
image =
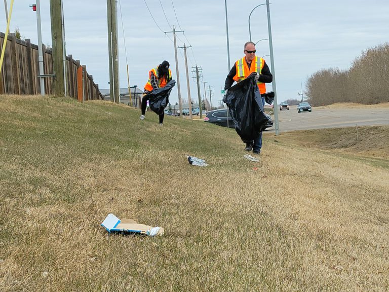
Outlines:
{"type": "Polygon", "coordinates": [[[109,95],[111,101],[120,103],[118,59],[118,0],[107,0],[109,95]]]}

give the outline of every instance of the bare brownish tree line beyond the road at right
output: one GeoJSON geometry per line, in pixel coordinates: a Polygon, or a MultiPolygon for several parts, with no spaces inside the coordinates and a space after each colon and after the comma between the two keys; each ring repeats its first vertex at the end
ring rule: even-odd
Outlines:
{"type": "Polygon", "coordinates": [[[348,70],[329,68],[315,72],[307,80],[305,95],[312,105],[388,102],[389,43],[363,51],[348,70]]]}

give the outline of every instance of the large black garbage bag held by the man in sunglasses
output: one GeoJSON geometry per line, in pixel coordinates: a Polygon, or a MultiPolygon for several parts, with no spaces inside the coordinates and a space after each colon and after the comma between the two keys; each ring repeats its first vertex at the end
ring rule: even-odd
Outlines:
{"type": "Polygon", "coordinates": [[[261,94],[255,75],[231,86],[223,101],[235,124],[235,130],[241,139],[249,143],[259,136],[268,119],[263,113],[261,94]]]}

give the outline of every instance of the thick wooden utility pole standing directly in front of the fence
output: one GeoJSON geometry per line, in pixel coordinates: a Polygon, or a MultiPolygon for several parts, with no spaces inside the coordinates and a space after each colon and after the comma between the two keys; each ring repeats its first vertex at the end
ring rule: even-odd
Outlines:
{"type": "Polygon", "coordinates": [[[63,66],[62,0],[50,0],[51,41],[54,69],[54,94],[65,95],[63,66]]]}

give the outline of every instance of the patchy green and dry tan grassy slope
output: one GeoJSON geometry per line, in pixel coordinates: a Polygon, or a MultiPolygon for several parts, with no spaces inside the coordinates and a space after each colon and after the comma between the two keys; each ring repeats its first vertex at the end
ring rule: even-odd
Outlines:
{"type": "Polygon", "coordinates": [[[253,163],[234,130],[108,102],[0,113],[0,290],[389,289],[382,164],[269,134],[253,163]],[[109,212],[166,235],[108,236],[109,212]]]}

